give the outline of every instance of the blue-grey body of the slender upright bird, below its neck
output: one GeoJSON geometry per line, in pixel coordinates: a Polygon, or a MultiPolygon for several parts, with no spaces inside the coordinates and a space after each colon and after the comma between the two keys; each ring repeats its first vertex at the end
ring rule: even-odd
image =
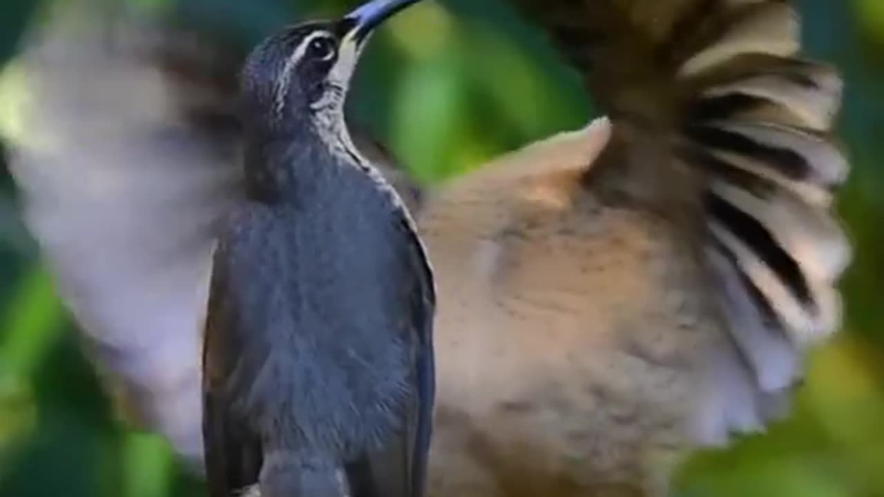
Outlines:
{"type": "MultiPolygon", "coordinates": [[[[431,354],[415,329],[427,311],[421,254],[389,198],[354,164],[301,164],[316,164],[300,169],[316,173],[299,190],[306,195],[242,206],[218,240],[205,337],[207,413],[224,420],[232,409],[242,418],[230,428],[240,431],[241,445],[216,450],[230,458],[225,466],[278,453],[289,463],[306,454],[343,470],[402,437],[397,463],[410,468],[424,450],[415,446],[417,416],[428,416],[417,412],[426,401],[417,385],[431,381],[420,376],[431,375],[429,364],[417,364],[431,354]],[[214,388],[225,392],[218,404],[214,388]],[[260,450],[242,454],[248,447],[260,450]]],[[[255,482],[255,474],[245,478],[225,488],[255,482]]]]}

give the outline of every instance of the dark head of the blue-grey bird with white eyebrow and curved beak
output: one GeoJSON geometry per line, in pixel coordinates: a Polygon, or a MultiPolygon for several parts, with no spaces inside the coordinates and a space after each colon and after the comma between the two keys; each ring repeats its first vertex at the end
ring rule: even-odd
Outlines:
{"type": "Polygon", "coordinates": [[[278,129],[342,122],[343,106],[362,48],[385,19],[419,0],[371,0],[337,20],[289,27],[258,45],[246,60],[246,119],[278,129]]]}

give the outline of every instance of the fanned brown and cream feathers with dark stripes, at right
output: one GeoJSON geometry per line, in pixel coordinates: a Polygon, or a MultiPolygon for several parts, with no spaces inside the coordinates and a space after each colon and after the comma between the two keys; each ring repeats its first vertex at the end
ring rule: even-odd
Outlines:
{"type": "Polygon", "coordinates": [[[668,162],[696,172],[707,263],[754,400],[707,420],[701,438],[757,427],[800,376],[801,351],[841,321],[850,244],[831,207],[848,174],[832,136],[842,80],[800,55],[785,0],[514,3],[583,73],[615,135],[663,142],[668,162]]]}

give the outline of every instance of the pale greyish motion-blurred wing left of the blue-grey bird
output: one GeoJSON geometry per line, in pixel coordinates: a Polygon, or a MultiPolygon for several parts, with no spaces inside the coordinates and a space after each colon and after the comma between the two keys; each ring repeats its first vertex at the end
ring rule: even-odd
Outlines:
{"type": "Polygon", "coordinates": [[[59,7],[20,58],[28,138],[11,165],[27,224],[106,378],[195,460],[197,330],[215,225],[238,197],[236,123],[194,119],[209,94],[179,105],[149,55],[182,41],[59,7]]]}

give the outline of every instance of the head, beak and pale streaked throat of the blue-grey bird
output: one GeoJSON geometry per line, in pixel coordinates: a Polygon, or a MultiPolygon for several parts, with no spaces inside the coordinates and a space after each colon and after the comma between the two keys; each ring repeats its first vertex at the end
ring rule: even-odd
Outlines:
{"type": "MultiPolygon", "coordinates": [[[[350,164],[367,174],[415,229],[406,204],[384,175],[354,145],[344,117],[344,103],[359,56],[380,22],[417,0],[378,0],[357,8],[342,19],[313,21],[271,36],[249,54],[244,65],[242,115],[248,154],[263,155],[277,137],[282,141],[322,142],[339,164],[350,164]],[[298,138],[295,138],[298,137],[298,138]]],[[[292,153],[290,150],[289,153],[292,153]]],[[[306,153],[295,150],[293,153],[306,153]]],[[[268,179],[284,183],[289,172],[272,162],[247,159],[247,183],[266,189],[268,179]],[[267,169],[271,168],[271,169],[267,169]]]]}

